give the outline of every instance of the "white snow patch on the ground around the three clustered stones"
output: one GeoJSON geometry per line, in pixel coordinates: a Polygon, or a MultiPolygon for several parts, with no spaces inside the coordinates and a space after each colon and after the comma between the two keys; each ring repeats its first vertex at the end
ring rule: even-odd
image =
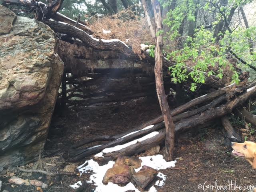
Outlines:
{"type": "MultiPolygon", "coordinates": [[[[176,160],[171,162],[166,162],[162,155],[140,157],[140,159],[142,160],[142,166],[143,165],[150,166],[157,170],[174,167],[176,163],[176,160]]],[[[79,166],[78,170],[81,175],[83,173],[92,172],[92,175],[90,176],[90,180],[87,181],[87,183],[93,183],[96,186],[96,189],[94,192],[110,192],[110,191],[126,192],[128,190],[134,190],[135,192],[140,192],[131,182],[123,187],[113,184],[111,182],[109,182],[107,185],[104,185],[102,183],[105,172],[109,168],[112,168],[114,163],[115,163],[114,161],[109,161],[108,164],[99,166],[97,162],[91,159],[91,160],[87,160],[86,162],[84,162],[84,164],[79,166]]],[[[136,171],[138,170],[140,170],[140,168],[136,169],[136,171]]],[[[161,178],[161,180],[156,181],[155,186],[161,187],[164,185],[164,182],[166,180],[166,175],[159,172],[157,176],[161,178]]],[[[157,192],[155,186],[152,186],[148,192],[157,192]]]]}

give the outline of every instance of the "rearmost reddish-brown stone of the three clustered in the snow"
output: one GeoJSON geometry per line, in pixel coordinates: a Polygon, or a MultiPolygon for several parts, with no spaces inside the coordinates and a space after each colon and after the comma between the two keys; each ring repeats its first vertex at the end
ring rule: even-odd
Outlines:
{"type": "Polygon", "coordinates": [[[137,157],[119,156],[116,159],[114,166],[128,165],[135,169],[138,169],[141,166],[141,162],[142,162],[142,160],[140,160],[137,157]]]}

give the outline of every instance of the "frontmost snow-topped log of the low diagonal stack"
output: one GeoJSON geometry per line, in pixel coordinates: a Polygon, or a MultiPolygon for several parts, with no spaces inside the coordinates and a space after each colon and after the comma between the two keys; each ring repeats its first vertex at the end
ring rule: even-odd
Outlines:
{"type": "MultiPolygon", "coordinates": [[[[181,132],[181,131],[193,128],[195,126],[198,126],[200,124],[204,124],[205,122],[208,122],[210,120],[220,118],[230,113],[234,108],[244,103],[246,100],[248,100],[248,98],[250,98],[255,93],[256,93],[256,86],[253,86],[252,88],[249,88],[248,90],[246,90],[246,92],[244,92],[240,96],[237,96],[236,98],[234,98],[234,100],[231,100],[222,106],[209,109],[202,114],[198,114],[186,120],[182,120],[177,124],[175,124],[175,132],[181,132]]],[[[132,141],[122,146],[116,146],[116,148],[106,148],[100,154],[97,154],[95,157],[96,158],[101,158],[101,157],[116,158],[121,154],[133,155],[141,151],[144,151],[148,148],[151,148],[152,144],[154,143],[160,144],[161,142],[164,142],[164,139],[165,139],[165,130],[163,129],[163,130],[160,130],[159,132],[152,132],[138,140],[135,140],[135,143],[134,141],[132,141]]]]}

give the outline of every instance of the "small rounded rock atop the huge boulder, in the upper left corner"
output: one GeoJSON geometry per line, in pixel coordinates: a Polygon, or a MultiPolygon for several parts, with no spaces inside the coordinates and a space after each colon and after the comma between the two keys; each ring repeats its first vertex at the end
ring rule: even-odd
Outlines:
{"type": "Polygon", "coordinates": [[[17,18],[16,14],[5,6],[0,5],[0,35],[8,34],[12,23],[17,18]]]}

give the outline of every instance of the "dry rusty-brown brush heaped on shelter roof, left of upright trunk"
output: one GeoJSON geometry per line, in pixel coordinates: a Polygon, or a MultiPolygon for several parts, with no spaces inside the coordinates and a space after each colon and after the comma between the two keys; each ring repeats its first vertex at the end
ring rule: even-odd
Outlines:
{"type": "Polygon", "coordinates": [[[135,16],[131,10],[123,10],[116,15],[94,19],[89,26],[93,36],[101,39],[119,39],[132,47],[140,55],[140,44],[153,44],[147,22],[135,16]],[[103,30],[110,31],[104,33],[103,30]]]}

